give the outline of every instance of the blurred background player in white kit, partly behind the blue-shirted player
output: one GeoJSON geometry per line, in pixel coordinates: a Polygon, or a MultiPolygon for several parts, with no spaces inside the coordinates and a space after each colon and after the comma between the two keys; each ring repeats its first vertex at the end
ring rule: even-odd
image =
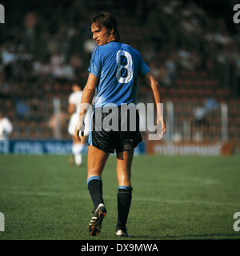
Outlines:
{"type": "MultiPolygon", "coordinates": [[[[86,136],[89,133],[89,126],[86,126],[85,137],[79,142],[74,138],[74,130],[78,123],[78,116],[80,112],[82,98],[82,88],[77,83],[72,85],[72,93],[69,97],[68,114],[70,114],[70,122],[68,126],[68,133],[73,138],[72,155],[70,156],[70,165],[74,162],[77,166],[82,165],[82,150],[84,149],[86,136]]],[[[90,115],[86,115],[87,120],[90,120],[90,115]]],[[[86,122],[88,124],[90,121],[86,122]]]]}

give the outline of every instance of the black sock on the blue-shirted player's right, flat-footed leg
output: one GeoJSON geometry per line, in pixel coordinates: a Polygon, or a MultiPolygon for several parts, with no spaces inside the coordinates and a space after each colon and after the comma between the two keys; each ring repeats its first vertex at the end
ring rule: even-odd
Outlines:
{"type": "Polygon", "coordinates": [[[128,218],[131,199],[132,199],[131,186],[118,186],[118,223],[117,230],[126,231],[126,221],[128,218]]]}

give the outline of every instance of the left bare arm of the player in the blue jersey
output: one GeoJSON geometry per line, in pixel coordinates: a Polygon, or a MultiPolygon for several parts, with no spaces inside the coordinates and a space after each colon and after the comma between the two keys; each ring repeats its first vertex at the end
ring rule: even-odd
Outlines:
{"type": "Polygon", "coordinates": [[[95,94],[95,88],[98,84],[98,78],[94,76],[94,74],[89,74],[86,86],[82,90],[82,100],[81,100],[81,108],[80,108],[80,114],[78,118],[78,124],[75,127],[75,133],[74,138],[78,141],[81,141],[81,138],[79,137],[79,130],[81,130],[83,126],[83,121],[86,115],[86,111],[88,110],[91,102],[93,101],[94,94],[95,94]]]}

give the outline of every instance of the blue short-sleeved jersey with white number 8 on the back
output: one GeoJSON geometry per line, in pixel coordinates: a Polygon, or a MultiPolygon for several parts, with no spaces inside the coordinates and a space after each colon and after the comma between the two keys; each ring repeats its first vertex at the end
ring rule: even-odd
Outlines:
{"type": "Polygon", "coordinates": [[[149,67],[138,50],[121,42],[97,46],[88,71],[99,79],[95,107],[136,104],[137,78],[143,78],[149,67]]]}

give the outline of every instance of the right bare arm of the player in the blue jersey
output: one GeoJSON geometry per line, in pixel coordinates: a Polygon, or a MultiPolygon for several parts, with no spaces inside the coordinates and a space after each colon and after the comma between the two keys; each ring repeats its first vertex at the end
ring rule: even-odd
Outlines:
{"type": "MultiPolygon", "coordinates": [[[[161,95],[161,91],[160,91],[160,86],[157,82],[157,80],[154,78],[154,76],[152,74],[150,74],[150,72],[148,72],[145,77],[143,78],[144,82],[146,82],[153,94],[154,94],[154,103],[156,106],[156,122],[157,122],[157,127],[161,127],[161,133],[158,134],[159,138],[162,137],[162,134],[166,133],[166,124],[163,118],[163,105],[162,105],[162,95],[161,95]]],[[[158,130],[158,128],[157,128],[158,130]]]]}

